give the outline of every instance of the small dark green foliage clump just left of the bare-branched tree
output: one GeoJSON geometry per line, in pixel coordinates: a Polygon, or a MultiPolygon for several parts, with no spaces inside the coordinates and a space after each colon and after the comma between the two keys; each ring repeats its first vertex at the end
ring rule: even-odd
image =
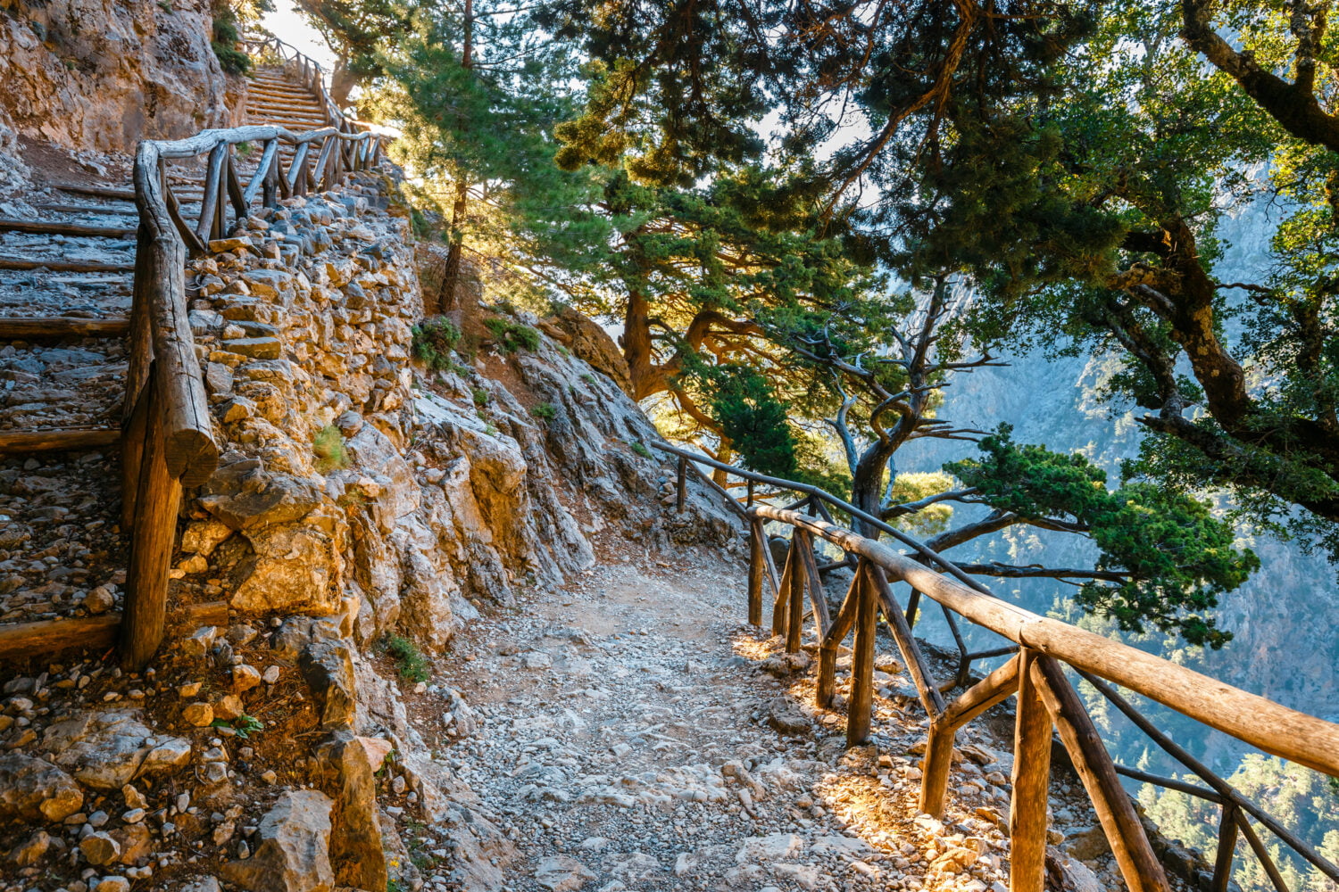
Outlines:
{"type": "Polygon", "coordinates": [[[712,372],[712,415],[746,468],[774,477],[795,476],[795,439],[786,405],[771,385],[746,365],[718,366],[712,372]]]}

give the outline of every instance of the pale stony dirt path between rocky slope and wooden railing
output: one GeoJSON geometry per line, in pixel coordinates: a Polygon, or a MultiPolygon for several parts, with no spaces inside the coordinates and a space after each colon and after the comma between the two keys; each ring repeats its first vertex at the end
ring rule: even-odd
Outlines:
{"type": "Polygon", "coordinates": [[[453,764],[521,852],[507,889],[1004,888],[1007,765],[964,760],[945,822],[917,818],[907,679],[876,675],[874,745],[845,752],[811,674],[739,625],[738,562],[637,554],[570,588],[462,635],[446,679],[479,713],[453,764]]]}

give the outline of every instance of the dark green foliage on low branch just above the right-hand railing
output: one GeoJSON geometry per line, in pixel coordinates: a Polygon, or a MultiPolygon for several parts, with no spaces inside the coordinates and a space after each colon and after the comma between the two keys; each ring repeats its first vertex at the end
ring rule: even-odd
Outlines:
{"type": "Polygon", "coordinates": [[[1097,568],[1127,574],[1122,582],[1085,583],[1082,607],[1126,631],[1148,625],[1213,649],[1232,638],[1216,629],[1212,611],[1260,562],[1233,548],[1231,524],[1214,519],[1208,503],[1148,481],[1107,489],[1106,472],[1085,456],[1016,444],[1008,425],[980,449],[944,469],[999,511],[1083,530],[1101,550],[1097,568]]]}

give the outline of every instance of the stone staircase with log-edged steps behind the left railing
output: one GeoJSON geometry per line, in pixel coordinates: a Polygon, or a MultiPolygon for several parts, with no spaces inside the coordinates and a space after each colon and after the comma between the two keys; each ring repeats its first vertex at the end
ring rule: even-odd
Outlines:
{"type": "MultiPolygon", "coordinates": [[[[250,74],[246,118],[293,132],[329,126],[321,99],[279,67],[250,74]]],[[[280,150],[285,167],[292,154],[280,150]]],[[[240,158],[238,173],[249,178],[258,160],[240,158]]],[[[204,174],[195,162],[167,166],[187,219],[204,174]]],[[[129,562],[116,443],[134,191],[54,183],[28,201],[36,217],[0,217],[0,651],[20,623],[107,614],[111,635],[129,562]]]]}

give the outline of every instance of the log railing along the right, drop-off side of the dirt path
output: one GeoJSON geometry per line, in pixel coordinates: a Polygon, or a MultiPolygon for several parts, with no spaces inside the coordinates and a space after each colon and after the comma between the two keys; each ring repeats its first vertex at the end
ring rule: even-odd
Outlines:
{"type": "Polygon", "coordinates": [[[1010,808],[1011,889],[1039,892],[1044,887],[1047,788],[1052,730],[1059,732],[1065,750],[1078,772],[1106,839],[1134,892],[1170,889],[1162,865],[1144,832],[1134,805],[1121,785],[1121,777],[1180,790],[1221,806],[1218,848],[1214,855],[1212,889],[1228,889],[1239,834],[1259,859],[1275,888],[1287,892],[1283,875],[1264,845],[1252,818],[1296,852],[1320,873],[1339,880],[1339,867],[1316,853],[1280,821],[1247,800],[1231,784],[1214,774],[1145,718],[1115,686],[1154,699],[1182,715],[1231,734],[1273,756],[1339,777],[1339,725],[1314,718],[1264,697],[1225,685],[1170,661],[1154,657],[1117,641],[1094,635],[1069,623],[1039,617],[1004,602],[972,579],[961,567],[927,548],[852,504],[807,484],[754,473],[667,444],[651,444],[679,457],[679,499],[683,510],[690,468],[715,487],[739,512],[750,530],[749,622],[762,626],[765,608],[771,608],[774,635],[785,635],[786,650],[798,651],[803,634],[805,600],[811,604],[818,646],[815,701],[830,707],[836,693],[837,651],[854,631],[852,691],[848,706],[848,745],[868,740],[873,714],[873,665],[878,615],[888,623],[893,641],[916,685],[929,715],[929,734],[921,765],[921,810],[941,817],[948,789],[956,733],[965,723],[1008,697],[1016,697],[1014,776],[1010,808]],[[707,465],[747,481],[749,496],[740,503],[715,484],[698,465],[707,465]],[[754,499],[754,485],[779,492],[799,492],[803,497],[778,508],[754,499]],[[886,543],[845,530],[832,511],[848,514],[866,528],[878,530],[907,546],[900,552],[886,543]],[[791,528],[790,550],[778,574],[767,546],[765,524],[791,528]],[[837,546],[845,560],[818,564],[814,542],[837,546]],[[830,615],[819,574],[829,567],[853,564],[850,588],[836,615],[830,615]],[[909,586],[908,607],[898,602],[893,586],[909,586]],[[770,594],[770,596],[769,596],[770,594]],[[927,662],[912,626],[921,596],[937,602],[945,615],[961,617],[1007,638],[1010,647],[967,654],[955,626],[960,654],[972,659],[1010,655],[1008,662],[967,687],[953,699],[945,693],[963,687],[957,678],[939,683],[927,662]],[[1205,786],[1158,777],[1113,762],[1082,698],[1070,685],[1066,667],[1106,699],[1168,756],[1196,774],[1205,786]]]}

